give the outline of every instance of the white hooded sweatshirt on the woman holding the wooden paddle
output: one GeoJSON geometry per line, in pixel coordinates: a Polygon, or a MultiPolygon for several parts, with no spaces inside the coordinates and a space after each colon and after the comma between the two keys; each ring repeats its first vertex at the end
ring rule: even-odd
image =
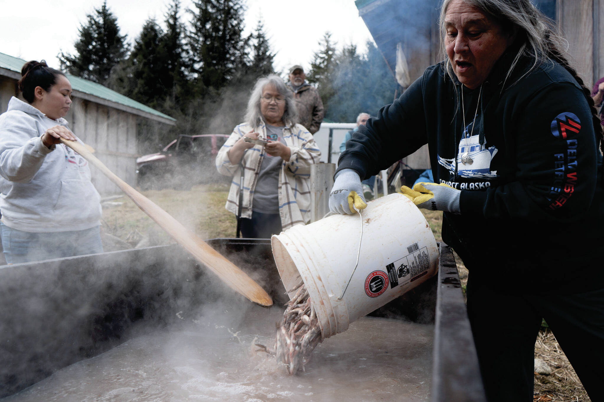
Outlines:
{"type": "Polygon", "coordinates": [[[100,225],[100,195],[88,162],[63,144],[51,150],[40,139],[55,125],[67,127],[67,121],[50,119],[14,96],[0,115],[0,212],[10,228],[47,233],[100,225]]]}

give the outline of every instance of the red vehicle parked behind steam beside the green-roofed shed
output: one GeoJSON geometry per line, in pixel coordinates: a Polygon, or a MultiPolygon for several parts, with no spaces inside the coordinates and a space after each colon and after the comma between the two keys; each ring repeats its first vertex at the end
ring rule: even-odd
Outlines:
{"type": "Polygon", "coordinates": [[[230,182],[220,175],[214,159],[228,139],[226,134],[181,134],[156,154],[137,158],[137,183],[143,190],[187,190],[194,184],[230,182]]]}

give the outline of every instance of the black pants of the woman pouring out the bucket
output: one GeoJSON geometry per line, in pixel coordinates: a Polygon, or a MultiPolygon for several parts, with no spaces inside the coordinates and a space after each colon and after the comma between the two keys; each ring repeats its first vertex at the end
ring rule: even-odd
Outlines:
{"type": "Polygon", "coordinates": [[[467,313],[487,400],[533,401],[535,340],[542,318],[591,400],[603,400],[604,289],[574,295],[507,294],[469,274],[467,313]]]}

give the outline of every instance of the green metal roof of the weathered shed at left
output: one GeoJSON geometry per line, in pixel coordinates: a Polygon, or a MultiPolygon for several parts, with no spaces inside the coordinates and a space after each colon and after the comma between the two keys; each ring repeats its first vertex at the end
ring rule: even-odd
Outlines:
{"type": "MultiPolygon", "coordinates": [[[[0,69],[7,69],[13,72],[18,73],[19,77],[21,76],[21,68],[23,67],[23,64],[25,64],[26,61],[22,60],[21,58],[18,57],[13,57],[4,53],[0,53],[0,69]]],[[[1,71],[0,71],[1,73],[1,71]]],[[[81,92],[81,93],[85,93],[88,95],[92,95],[92,96],[96,96],[97,98],[101,98],[101,99],[105,99],[106,101],[109,102],[114,102],[115,104],[118,105],[123,105],[127,108],[133,108],[135,110],[138,111],[142,111],[143,113],[136,113],[138,115],[141,116],[145,116],[145,117],[151,117],[151,116],[146,116],[146,114],[148,113],[149,115],[152,116],[156,116],[159,119],[155,119],[155,120],[159,120],[159,121],[163,121],[167,124],[174,124],[174,122],[176,122],[175,118],[171,118],[168,115],[164,115],[164,113],[161,113],[160,111],[157,111],[153,108],[150,108],[149,106],[143,105],[140,102],[134,101],[130,98],[128,98],[127,96],[121,95],[121,93],[115,92],[114,90],[111,90],[107,87],[102,86],[101,84],[98,83],[93,83],[92,81],[88,81],[85,80],[83,78],[80,77],[76,77],[75,75],[71,75],[71,74],[65,74],[65,76],[68,78],[69,82],[71,83],[71,87],[74,90],[74,95],[78,96],[79,94],[77,92],[81,92]]],[[[12,77],[12,78],[16,78],[16,77],[12,77]]],[[[82,97],[82,96],[80,96],[82,97]]],[[[89,99],[91,101],[94,101],[94,99],[89,99]]],[[[111,104],[108,104],[109,106],[111,106],[111,104]]],[[[118,107],[119,108],[119,107],[118,107]]],[[[127,110],[127,111],[131,111],[132,113],[135,113],[132,110],[127,110]]]]}

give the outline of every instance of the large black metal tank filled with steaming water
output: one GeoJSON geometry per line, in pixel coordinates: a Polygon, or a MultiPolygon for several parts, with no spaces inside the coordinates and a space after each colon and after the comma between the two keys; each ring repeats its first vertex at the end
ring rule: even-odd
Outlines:
{"type": "MultiPolygon", "coordinates": [[[[268,239],[208,242],[287,300],[268,239]]],[[[30,386],[10,401],[484,400],[445,245],[438,278],[327,339],[294,377],[251,352],[283,309],[252,305],[176,245],[4,266],[0,288],[0,396],[30,386]]]]}

